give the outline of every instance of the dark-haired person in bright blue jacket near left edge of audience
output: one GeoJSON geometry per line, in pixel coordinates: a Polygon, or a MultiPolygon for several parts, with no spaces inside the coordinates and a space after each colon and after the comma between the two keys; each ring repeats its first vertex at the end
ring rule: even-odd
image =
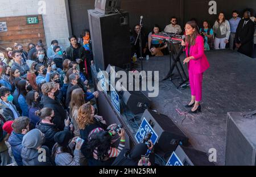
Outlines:
{"type": "Polygon", "coordinates": [[[32,89],[33,88],[28,81],[20,80],[18,82],[18,91],[19,91],[18,103],[19,103],[20,109],[22,109],[22,116],[28,117],[28,105],[26,102],[26,96],[27,96],[27,92],[31,91],[32,89]]]}

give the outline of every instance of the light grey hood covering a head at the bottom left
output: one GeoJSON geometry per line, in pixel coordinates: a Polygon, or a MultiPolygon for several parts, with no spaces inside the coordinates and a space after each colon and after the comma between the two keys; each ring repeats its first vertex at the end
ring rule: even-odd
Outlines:
{"type": "Polygon", "coordinates": [[[22,146],[36,149],[42,145],[43,133],[39,129],[32,129],[23,136],[22,146]]]}

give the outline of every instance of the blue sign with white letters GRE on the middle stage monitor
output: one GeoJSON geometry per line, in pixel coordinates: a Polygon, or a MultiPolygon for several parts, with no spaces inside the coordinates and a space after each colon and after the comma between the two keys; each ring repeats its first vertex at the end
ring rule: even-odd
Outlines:
{"type": "Polygon", "coordinates": [[[147,132],[150,132],[152,134],[150,140],[155,145],[156,141],[158,140],[158,135],[155,133],[154,129],[152,129],[150,124],[148,124],[147,120],[144,117],[141,126],[139,127],[137,133],[135,134],[135,139],[137,140],[138,143],[143,140],[147,132]]]}

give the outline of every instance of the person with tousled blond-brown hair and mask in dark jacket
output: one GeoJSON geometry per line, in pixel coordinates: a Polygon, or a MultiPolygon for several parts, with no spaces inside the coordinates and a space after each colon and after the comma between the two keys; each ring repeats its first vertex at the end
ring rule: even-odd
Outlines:
{"type": "Polygon", "coordinates": [[[64,120],[66,119],[66,112],[59,100],[57,100],[57,95],[59,95],[59,88],[57,83],[48,82],[44,83],[42,86],[42,100],[44,108],[52,108],[55,113],[55,119],[53,123],[55,124],[55,128],[58,130],[63,130],[65,127],[64,120]]]}

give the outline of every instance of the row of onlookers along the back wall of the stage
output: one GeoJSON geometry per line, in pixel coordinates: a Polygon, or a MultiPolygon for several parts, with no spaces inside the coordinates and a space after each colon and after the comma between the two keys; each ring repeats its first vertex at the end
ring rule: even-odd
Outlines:
{"type": "MultiPolygon", "coordinates": [[[[197,20],[192,18],[190,21],[197,20]]],[[[237,10],[232,12],[232,18],[227,20],[224,12],[218,14],[218,19],[210,26],[208,20],[204,20],[200,28],[197,23],[201,35],[204,37],[204,49],[225,49],[228,47],[232,50],[237,50],[246,56],[252,57],[254,50],[254,31],[256,19],[251,15],[250,11],[245,11],[242,18],[239,17],[237,10]]],[[[131,32],[131,45],[133,46],[132,54],[136,53],[138,56],[141,53],[139,42],[135,44],[139,31],[142,31],[142,56],[163,56],[168,54],[167,43],[163,40],[152,38],[152,34],[161,32],[158,24],[155,24],[152,31],[146,36],[143,29],[137,24],[134,27],[134,32],[131,32]]],[[[177,24],[177,18],[171,18],[171,24],[168,24],[163,32],[176,33],[176,35],[183,35],[185,31],[177,24]]],[[[174,48],[179,50],[179,44],[174,41],[174,48]]],[[[172,51],[174,51],[172,49],[172,51]]]]}

